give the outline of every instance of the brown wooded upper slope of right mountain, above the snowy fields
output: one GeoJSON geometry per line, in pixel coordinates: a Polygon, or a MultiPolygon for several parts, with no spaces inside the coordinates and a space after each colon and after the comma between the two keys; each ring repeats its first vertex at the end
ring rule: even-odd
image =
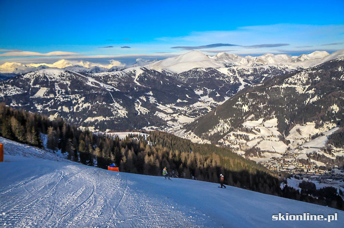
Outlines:
{"type": "MultiPolygon", "coordinates": [[[[260,118],[277,118],[278,132],[284,137],[293,126],[306,122],[315,122],[317,127],[325,122],[343,126],[343,64],[339,58],[247,87],[187,128],[217,143],[242,128],[246,120],[260,118]]],[[[336,137],[332,140],[342,144],[336,137]]]]}

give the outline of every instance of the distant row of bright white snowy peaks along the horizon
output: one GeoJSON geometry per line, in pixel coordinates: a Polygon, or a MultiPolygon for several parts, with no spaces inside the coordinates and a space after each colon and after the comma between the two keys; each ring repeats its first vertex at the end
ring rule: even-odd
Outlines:
{"type": "MultiPolygon", "coordinates": [[[[340,51],[339,51],[340,52],[340,51]]],[[[199,51],[192,51],[177,57],[167,58],[164,60],[144,60],[137,59],[132,65],[124,65],[118,61],[112,60],[110,64],[103,65],[88,61],[69,61],[60,60],[52,64],[47,63],[4,63],[0,65],[0,73],[23,74],[45,68],[67,69],[82,73],[113,72],[127,68],[144,66],[148,69],[154,69],[159,72],[169,71],[172,73],[181,73],[194,68],[223,68],[223,67],[279,67],[287,70],[305,69],[329,61],[332,57],[339,58],[338,52],[329,54],[327,52],[316,51],[311,54],[300,56],[273,55],[265,54],[263,56],[241,57],[234,54],[218,53],[215,56],[207,56],[199,51]],[[332,56],[332,57],[331,57],[332,56]]],[[[332,58],[334,59],[334,58],[332,58]]]]}

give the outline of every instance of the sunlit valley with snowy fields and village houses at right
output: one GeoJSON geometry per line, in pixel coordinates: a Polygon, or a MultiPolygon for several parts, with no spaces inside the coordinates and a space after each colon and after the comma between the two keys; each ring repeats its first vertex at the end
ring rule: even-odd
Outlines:
{"type": "Polygon", "coordinates": [[[298,188],[303,180],[317,188],[333,186],[344,189],[344,149],[328,143],[329,136],[338,131],[330,122],[316,127],[314,122],[296,124],[283,138],[277,129],[277,119],[246,120],[240,130],[220,140],[237,154],[249,158],[274,173],[291,176],[288,183],[298,188]]]}

